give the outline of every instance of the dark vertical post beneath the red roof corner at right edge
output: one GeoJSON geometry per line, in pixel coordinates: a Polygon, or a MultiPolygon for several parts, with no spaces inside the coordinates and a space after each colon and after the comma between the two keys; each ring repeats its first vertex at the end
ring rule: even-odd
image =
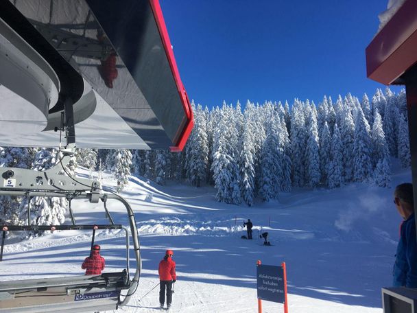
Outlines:
{"type": "Polygon", "coordinates": [[[417,65],[409,69],[404,74],[404,78],[407,93],[409,148],[412,156],[414,213],[417,215],[417,65]]]}

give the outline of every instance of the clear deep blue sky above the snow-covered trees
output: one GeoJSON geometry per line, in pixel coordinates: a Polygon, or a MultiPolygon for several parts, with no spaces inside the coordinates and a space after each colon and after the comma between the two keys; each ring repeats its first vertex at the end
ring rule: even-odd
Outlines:
{"type": "MultiPolygon", "coordinates": [[[[263,103],[385,86],[366,78],[365,49],[388,0],[160,0],[190,99],[263,103]]],[[[392,88],[398,91],[397,88],[392,88]]]]}

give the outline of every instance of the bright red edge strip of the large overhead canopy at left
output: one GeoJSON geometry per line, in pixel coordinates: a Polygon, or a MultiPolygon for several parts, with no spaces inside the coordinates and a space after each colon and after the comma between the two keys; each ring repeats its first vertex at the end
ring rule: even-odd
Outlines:
{"type": "Polygon", "coordinates": [[[178,71],[177,63],[174,56],[174,51],[172,50],[171,40],[169,40],[167,26],[165,25],[164,16],[162,10],[160,9],[159,0],[149,0],[150,5],[152,8],[152,12],[154,13],[156,25],[158,26],[160,38],[163,42],[165,47],[165,54],[167,54],[167,59],[169,62],[169,66],[171,67],[172,75],[174,76],[174,80],[177,85],[178,94],[180,95],[180,100],[182,102],[182,107],[184,108],[185,115],[188,119],[188,123],[184,126],[183,130],[179,130],[180,138],[178,139],[176,146],[169,147],[169,150],[172,152],[180,152],[187,143],[187,139],[191,134],[191,130],[193,129],[194,121],[193,121],[193,111],[191,109],[191,104],[189,102],[187,92],[185,91],[184,84],[182,84],[180,73],[178,71]]]}

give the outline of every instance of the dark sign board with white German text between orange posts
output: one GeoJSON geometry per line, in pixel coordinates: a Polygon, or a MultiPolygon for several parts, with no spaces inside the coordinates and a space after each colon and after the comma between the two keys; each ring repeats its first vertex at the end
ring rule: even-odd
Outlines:
{"type": "Polygon", "coordinates": [[[283,266],[257,266],[258,299],[285,303],[283,266]]]}

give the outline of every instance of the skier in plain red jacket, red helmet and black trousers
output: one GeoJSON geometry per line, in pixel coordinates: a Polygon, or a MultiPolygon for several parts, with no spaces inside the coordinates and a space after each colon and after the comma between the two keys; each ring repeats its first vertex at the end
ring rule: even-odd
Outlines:
{"type": "Polygon", "coordinates": [[[175,273],[175,262],[172,259],[174,251],[165,251],[165,257],[159,262],[159,303],[160,308],[164,307],[165,303],[165,288],[167,288],[167,309],[172,303],[172,284],[177,281],[177,275],[175,273]]]}

